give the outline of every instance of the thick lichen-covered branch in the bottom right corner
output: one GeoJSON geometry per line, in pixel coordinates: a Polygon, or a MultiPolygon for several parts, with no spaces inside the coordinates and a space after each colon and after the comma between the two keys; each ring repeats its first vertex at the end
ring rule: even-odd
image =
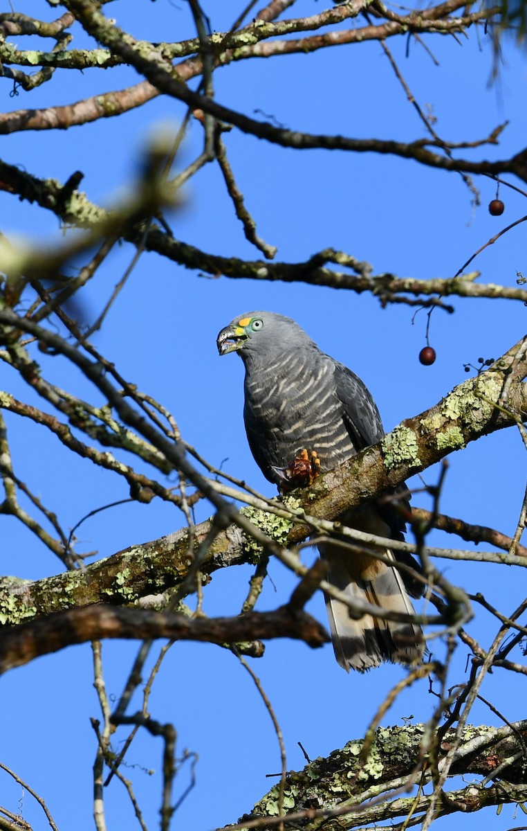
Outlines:
{"type": "MultiPolygon", "coordinates": [[[[486,788],[471,782],[461,790],[446,793],[439,814],[474,811],[487,804],[525,799],[525,744],[521,737],[526,731],[525,721],[499,730],[484,725],[466,726],[451,773],[492,778],[493,772],[505,763],[500,783],[486,788]]],[[[451,730],[435,749],[440,769],[453,737],[451,730]]],[[[285,828],[315,831],[320,829],[321,820],[327,818],[322,827],[333,831],[360,828],[409,813],[418,816],[427,809],[430,798],[420,794],[406,796],[407,786],[416,780],[416,774],[424,785],[432,779],[434,770],[428,764],[428,753],[422,755],[422,744],[427,744],[427,725],[379,728],[365,761],[361,758],[364,740],[352,740],[327,759],[318,758],[304,770],[288,774],[284,793],[292,807],[285,818],[276,816],[276,785],[239,825],[228,828],[269,831],[285,819],[285,828]],[[324,807],[320,809],[321,805],[324,807]]]]}

